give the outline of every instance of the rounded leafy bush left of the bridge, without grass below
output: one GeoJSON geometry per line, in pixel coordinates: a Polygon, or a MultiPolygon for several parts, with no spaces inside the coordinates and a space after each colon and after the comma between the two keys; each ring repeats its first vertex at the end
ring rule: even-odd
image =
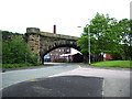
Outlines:
{"type": "MultiPolygon", "coordinates": [[[[13,37],[10,42],[2,44],[2,63],[3,64],[25,64],[37,63],[22,36],[13,37]]],[[[14,66],[15,67],[15,66],[14,66]]]]}

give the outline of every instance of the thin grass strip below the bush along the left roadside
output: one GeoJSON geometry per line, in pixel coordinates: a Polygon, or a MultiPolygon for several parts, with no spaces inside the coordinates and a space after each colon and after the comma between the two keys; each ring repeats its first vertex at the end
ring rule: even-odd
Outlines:
{"type": "Polygon", "coordinates": [[[36,64],[2,64],[2,68],[16,68],[16,67],[29,67],[29,66],[38,66],[41,64],[36,63],[36,64]]]}

